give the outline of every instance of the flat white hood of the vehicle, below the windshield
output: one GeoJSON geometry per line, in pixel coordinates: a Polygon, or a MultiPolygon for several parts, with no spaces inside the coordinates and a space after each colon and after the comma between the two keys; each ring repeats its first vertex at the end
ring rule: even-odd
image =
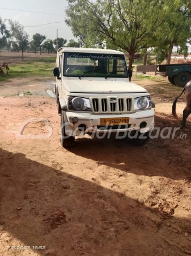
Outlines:
{"type": "Polygon", "coordinates": [[[142,93],[143,87],[127,81],[66,80],[66,89],[71,93],[142,93]]]}

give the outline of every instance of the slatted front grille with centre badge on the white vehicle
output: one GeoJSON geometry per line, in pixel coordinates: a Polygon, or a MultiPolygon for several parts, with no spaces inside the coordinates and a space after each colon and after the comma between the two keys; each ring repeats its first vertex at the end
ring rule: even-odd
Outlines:
{"type": "Polygon", "coordinates": [[[93,113],[115,114],[133,112],[134,99],[129,97],[90,97],[90,104],[93,113]],[[112,101],[111,101],[111,100],[112,101]],[[116,99],[116,101],[113,101],[116,99]]]}

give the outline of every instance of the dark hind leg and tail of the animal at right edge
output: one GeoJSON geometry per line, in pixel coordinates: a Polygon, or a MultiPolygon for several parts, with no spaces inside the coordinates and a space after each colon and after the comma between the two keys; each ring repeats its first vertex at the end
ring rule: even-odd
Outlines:
{"type": "MultiPolygon", "coordinates": [[[[182,123],[181,123],[181,128],[184,129],[186,127],[186,119],[191,113],[191,81],[187,82],[187,84],[184,86],[184,89],[182,90],[182,93],[185,93],[185,96],[186,96],[186,106],[183,111],[183,117],[182,117],[182,123]]],[[[182,95],[182,93],[175,98],[172,105],[172,115],[177,120],[179,120],[179,118],[177,117],[177,114],[176,114],[176,102],[178,98],[182,95]]]]}

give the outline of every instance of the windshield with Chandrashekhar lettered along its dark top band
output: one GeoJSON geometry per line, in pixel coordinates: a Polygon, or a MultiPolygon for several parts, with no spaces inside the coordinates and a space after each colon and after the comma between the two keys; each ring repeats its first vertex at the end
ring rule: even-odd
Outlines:
{"type": "Polygon", "coordinates": [[[65,53],[64,76],[128,77],[124,55],[65,53]]]}

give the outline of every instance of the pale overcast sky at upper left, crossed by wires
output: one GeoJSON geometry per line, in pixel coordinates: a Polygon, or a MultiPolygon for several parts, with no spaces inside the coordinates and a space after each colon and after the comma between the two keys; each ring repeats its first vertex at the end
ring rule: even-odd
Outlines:
{"type": "Polygon", "coordinates": [[[74,39],[73,33],[70,27],[66,25],[65,20],[65,10],[67,7],[66,0],[9,0],[1,1],[1,8],[16,9],[16,10],[26,10],[26,11],[36,11],[40,13],[50,13],[49,14],[37,14],[28,13],[25,11],[14,11],[5,10],[0,8],[0,16],[2,19],[12,19],[19,21],[24,27],[25,26],[36,26],[52,22],[63,22],[48,24],[39,27],[25,27],[25,30],[29,34],[29,39],[32,40],[32,35],[40,33],[46,36],[47,39],[56,39],[56,30],[58,28],[58,37],[67,39],[74,39]],[[59,15],[58,15],[59,14],[59,15]]]}

